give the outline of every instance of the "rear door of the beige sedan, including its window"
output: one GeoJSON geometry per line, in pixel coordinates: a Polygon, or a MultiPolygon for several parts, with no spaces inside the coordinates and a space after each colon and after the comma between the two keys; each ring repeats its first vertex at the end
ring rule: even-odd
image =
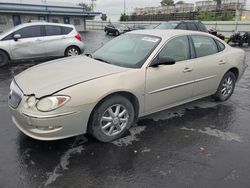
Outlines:
{"type": "Polygon", "coordinates": [[[191,39],[196,52],[196,58],[193,59],[195,79],[193,95],[202,96],[217,89],[225,69],[226,57],[212,37],[192,35],[191,39]]]}

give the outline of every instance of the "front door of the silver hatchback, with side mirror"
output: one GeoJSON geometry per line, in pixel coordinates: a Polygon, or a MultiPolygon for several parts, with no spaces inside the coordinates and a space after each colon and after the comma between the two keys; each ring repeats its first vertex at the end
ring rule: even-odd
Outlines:
{"type": "Polygon", "coordinates": [[[9,44],[13,59],[38,58],[46,55],[42,26],[35,25],[19,29],[11,37],[9,44]],[[15,34],[21,35],[17,41],[13,39],[15,34]]]}

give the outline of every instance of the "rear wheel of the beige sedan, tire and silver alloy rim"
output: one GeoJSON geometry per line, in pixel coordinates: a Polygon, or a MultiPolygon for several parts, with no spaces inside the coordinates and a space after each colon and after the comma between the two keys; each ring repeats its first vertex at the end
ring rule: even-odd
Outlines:
{"type": "Polygon", "coordinates": [[[235,83],[235,74],[233,72],[227,72],[223,76],[216,93],[213,95],[215,100],[221,102],[228,100],[234,92],[235,83]]]}

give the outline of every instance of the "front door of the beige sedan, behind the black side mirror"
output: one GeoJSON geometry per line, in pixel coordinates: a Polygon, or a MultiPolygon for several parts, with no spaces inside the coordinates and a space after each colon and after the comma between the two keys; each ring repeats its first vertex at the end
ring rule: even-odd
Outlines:
{"type": "Polygon", "coordinates": [[[145,113],[158,111],[192,97],[193,62],[187,36],[170,40],[157,58],[170,57],[174,65],[148,67],[146,72],[145,113]]]}

